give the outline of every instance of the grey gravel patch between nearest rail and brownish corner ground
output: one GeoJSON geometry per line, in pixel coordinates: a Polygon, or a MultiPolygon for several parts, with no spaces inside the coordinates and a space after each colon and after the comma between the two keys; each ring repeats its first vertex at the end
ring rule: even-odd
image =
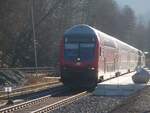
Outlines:
{"type": "Polygon", "coordinates": [[[50,113],[108,113],[125,98],[90,95],[50,113]]]}

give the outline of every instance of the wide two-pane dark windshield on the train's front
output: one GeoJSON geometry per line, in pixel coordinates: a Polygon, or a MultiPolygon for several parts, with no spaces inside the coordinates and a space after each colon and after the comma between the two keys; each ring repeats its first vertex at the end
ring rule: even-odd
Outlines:
{"type": "Polygon", "coordinates": [[[86,40],[65,41],[64,57],[68,61],[92,61],[94,59],[95,42],[86,40]]]}

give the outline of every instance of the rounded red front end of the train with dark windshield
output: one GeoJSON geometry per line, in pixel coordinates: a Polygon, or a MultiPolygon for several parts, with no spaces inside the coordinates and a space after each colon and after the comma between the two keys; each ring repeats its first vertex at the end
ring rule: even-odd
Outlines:
{"type": "Polygon", "coordinates": [[[67,30],[61,42],[61,80],[74,88],[92,88],[97,84],[98,40],[86,25],[67,30]]]}

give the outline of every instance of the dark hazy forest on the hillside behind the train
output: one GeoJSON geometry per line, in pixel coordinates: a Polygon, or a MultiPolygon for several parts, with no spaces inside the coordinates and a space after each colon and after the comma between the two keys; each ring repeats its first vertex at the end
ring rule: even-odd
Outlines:
{"type": "Polygon", "coordinates": [[[35,66],[32,8],[40,67],[58,64],[60,39],[76,24],[91,25],[150,52],[150,24],[137,21],[129,6],[119,8],[114,0],[1,0],[0,67],[35,66]]]}

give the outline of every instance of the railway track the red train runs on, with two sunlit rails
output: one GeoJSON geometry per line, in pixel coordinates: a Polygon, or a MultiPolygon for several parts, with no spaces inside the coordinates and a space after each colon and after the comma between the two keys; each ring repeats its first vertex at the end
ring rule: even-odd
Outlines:
{"type": "MultiPolygon", "coordinates": [[[[125,75],[125,74],[123,74],[125,75]]],[[[120,76],[123,76],[120,75],[120,76]]],[[[113,77],[114,78],[114,77],[113,77]]],[[[113,79],[111,78],[111,79],[113,79]]],[[[107,79],[110,80],[110,79],[107,79]]],[[[104,80],[104,81],[107,81],[104,80]]],[[[59,89],[60,90],[60,89],[59,89]]],[[[59,92],[61,93],[61,92],[59,92]]],[[[80,98],[89,95],[87,91],[83,91],[80,93],[73,94],[72,96],[44,96],[41,98],[37,98],[31,101],[27,101],[21,104],[17,104],[11,107],[7,107],[0,110],[0,113],[46,113],[52,110],[58,109],[67,104],[73,103],[80,98]]]]}

